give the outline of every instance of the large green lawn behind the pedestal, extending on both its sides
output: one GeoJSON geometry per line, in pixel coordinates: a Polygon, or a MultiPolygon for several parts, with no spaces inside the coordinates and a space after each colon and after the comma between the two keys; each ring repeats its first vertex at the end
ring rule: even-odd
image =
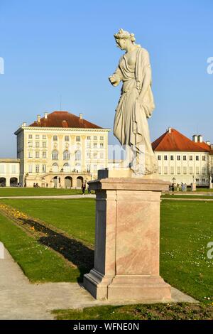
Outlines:
{"type": "MultiPolygon", "coordinates": [[[[1,203],[37,217],[84,244],[94,243],[92,199],[1,200],[1,203]]],[[[160,222],[161,276],[197,300],[212,303],[213,260],[207,258],[207,244],[213,241],[213,202],[163,200],[160,222]]]]}

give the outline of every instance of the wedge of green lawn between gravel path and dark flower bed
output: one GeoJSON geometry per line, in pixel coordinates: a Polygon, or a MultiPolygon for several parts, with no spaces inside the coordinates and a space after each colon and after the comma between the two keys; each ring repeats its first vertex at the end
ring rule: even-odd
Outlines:
{"type": "Polygon", "coordinates": [[[72,268],[60,255],[39,244],[2,215],[0,240],[31,282],[76,281],[80,276],[78,268],[72,268]]]}

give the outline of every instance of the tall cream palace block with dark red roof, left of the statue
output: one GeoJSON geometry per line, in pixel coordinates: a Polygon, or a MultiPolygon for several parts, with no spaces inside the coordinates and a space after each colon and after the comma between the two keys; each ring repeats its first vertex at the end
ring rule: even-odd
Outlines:
{"type": "Polygon", "coordinates": [[[38,115],[15,132],[22,185],[80,188],[108,164],[109,129],[69,112],[38,115]]]}

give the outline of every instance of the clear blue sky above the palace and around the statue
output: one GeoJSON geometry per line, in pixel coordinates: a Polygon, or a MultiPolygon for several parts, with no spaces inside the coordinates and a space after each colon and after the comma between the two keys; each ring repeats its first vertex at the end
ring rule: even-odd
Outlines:
{"type": "MultiPolygon", "coordinates": [[[[124,28],[151,55],[151,139],[168,126],[213,142],[212,0],[0,0],[0,157],[16,156],[16,131],[62,109],[112,128],[120,87],[108,77],[124,28]]],[[[110,144],[117,141],[113,135],[110,144]]]]}

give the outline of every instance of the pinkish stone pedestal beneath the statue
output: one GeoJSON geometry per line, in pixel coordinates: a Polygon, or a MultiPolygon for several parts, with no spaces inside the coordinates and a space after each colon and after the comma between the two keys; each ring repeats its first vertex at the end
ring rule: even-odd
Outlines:
{"type": "Polygon", "coordinates": [[[159,275],[160,194],[168,183],[144,178],[102,178],[96,191],[94,269],[84,287],[108,301],[170,301],[159,275]]]}

